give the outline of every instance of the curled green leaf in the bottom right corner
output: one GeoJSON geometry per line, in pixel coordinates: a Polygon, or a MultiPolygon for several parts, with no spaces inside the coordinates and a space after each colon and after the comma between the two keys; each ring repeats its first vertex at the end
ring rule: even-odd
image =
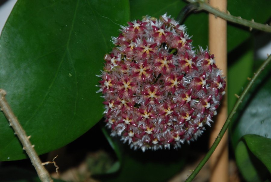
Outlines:
{"type": "Polygon", "coordinates": [[[235,149],[235,158],[238,168],[248,182],[270,181],[271,139],[258,135],[245,135],[235,149]],[[260,160],[259,160],[260,159],[260,160]]]}

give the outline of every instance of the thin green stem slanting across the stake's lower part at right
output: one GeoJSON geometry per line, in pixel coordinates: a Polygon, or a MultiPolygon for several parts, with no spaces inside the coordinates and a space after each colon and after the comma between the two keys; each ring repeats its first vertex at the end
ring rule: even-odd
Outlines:
{"type": "Polygon", "coordinates": [[[192,174],[187,178],[187,180],[185,180],[186,182],[192,181],[196,177],[196,175],[198,174],[198,172],[201,170],[201,168],[204,166],[204,164],[211,157],[211,155],[213,154],[214,150],[216,149],[216,147],[220,143],[220,140],[222,139],[224,133],[228,129],[229,124],[230,124],[230,122],[232,120],[232,117],[236,113],[236,111],[237,111],[238,107],[240,106],[240,104],[242,103],[244,97],[248,94],[248,91],[251,89],[251,86],[253,85],[253,83],[255,82],[255,80],[260,75],[260,73],[263,71],[263,69],[270,63],[270,61],[271,61],[271,55],[269,55],[268,58],[263,62],[263,64],[260,66],[260,68],[257,70],[257,72],[254,73],[254,76],[251,78],[250,82],[248,83],[248,85],[246,86],[246,88],[242,92],[241,96],[239,97],[239,99],[235,103],[232,111],[230,112],[230,114],[229,114],[227,120],[225,121],[225,124],[223,125],[222,129],[220,130],[220,133],[216,137],[216,140],[214,141],[213,145],[211,146],[211,148],[209,149],[209,151],[207,152],[207,154],[204,156],[204,158],[201,160],[201,162],[198,164],[198,166],[195,168],[195,170],[192,172],[192,174]]]}

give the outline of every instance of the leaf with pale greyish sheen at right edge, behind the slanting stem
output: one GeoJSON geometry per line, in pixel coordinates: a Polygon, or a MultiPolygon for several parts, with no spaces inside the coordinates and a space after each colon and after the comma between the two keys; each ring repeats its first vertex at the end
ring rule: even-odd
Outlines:
{"type": "Polygon", "coordinates": [[[271,138],[271,65],[254,83],[251,93],[243,101],[230,126],[232,145],[246,134],[257,134],[271,138]]]}

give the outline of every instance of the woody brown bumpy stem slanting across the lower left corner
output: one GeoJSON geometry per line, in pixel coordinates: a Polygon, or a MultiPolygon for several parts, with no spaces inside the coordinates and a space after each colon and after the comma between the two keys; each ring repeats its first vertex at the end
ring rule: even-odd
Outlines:
{"type": "Polygon", "coordinates": [[[26,135],[25,130],[23,130],[23,127],[20,125],[19,121],[17,120],[16,116],[14,115],[13,111],[11,110],[8,102],[5,99],[6,92],[3,89],[0,89],[0,107],[1,111],[3,111],[5,117],[9,121],[10,126],[14,130],[14,134],[16,134],[20,140],[20,142],[23,145],[23,150],[25,150],[26,154],[29,156],[32,165],[37,171],[37,174],[39,176],[39,179],[42,182],[52,182],[48,171],[45,169],[45,167],[42,165],[41,160],[39,159],[39,156],[37,155],[34,145],[31,144],[29,138],[30,136],[26,135]]]}

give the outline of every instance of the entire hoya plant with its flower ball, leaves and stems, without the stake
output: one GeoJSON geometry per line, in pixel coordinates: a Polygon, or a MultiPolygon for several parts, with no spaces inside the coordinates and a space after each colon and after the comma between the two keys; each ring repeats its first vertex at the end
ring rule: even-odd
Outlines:
{"type": "Polygon", "coordinates": [[[92,157],[96,180],[170,180],[191,165],[191,153],[207,152],[224,102],[228,118],[187,181],[228,127],[239,177],[270,180],[271,57],[255,58],[254,50],[266,42],[262,32],[271,40],[271,2],[227,4],[223,12],[202,0],[18,0],[0,37],[3,181],[51,181],[44,165],[58,159],[42,163],[38,155],[86,132],[94,134],[84,148],[113,156],[92,157]],[[208,48],[209,13],[228,21],[227,40],[218,39],[227,70],[208,48]],[[28,157],[39,178],[5,167],[28,157]]]}

